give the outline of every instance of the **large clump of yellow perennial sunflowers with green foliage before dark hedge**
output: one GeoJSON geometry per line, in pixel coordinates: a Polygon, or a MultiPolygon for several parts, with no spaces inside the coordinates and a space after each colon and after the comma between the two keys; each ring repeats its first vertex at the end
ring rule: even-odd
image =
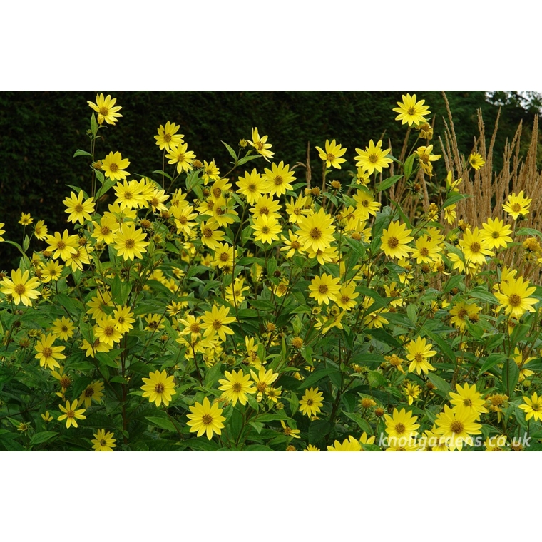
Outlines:
{"type": "Polygon", "coordinates": [[[6,240],[21,259],[0,280],[0,449],[541,449],[531,198],[507,187],[468,223],[462,181],[487,156],[434,153],[423,100],[393,108],[399,158],[325,140],[316,184],[258,128],[219,167],[170,121],[162,169],[128,173],[97,148],[121,107],[89,106],[66,228],[23,213],[22,245],[6,240]]]}

